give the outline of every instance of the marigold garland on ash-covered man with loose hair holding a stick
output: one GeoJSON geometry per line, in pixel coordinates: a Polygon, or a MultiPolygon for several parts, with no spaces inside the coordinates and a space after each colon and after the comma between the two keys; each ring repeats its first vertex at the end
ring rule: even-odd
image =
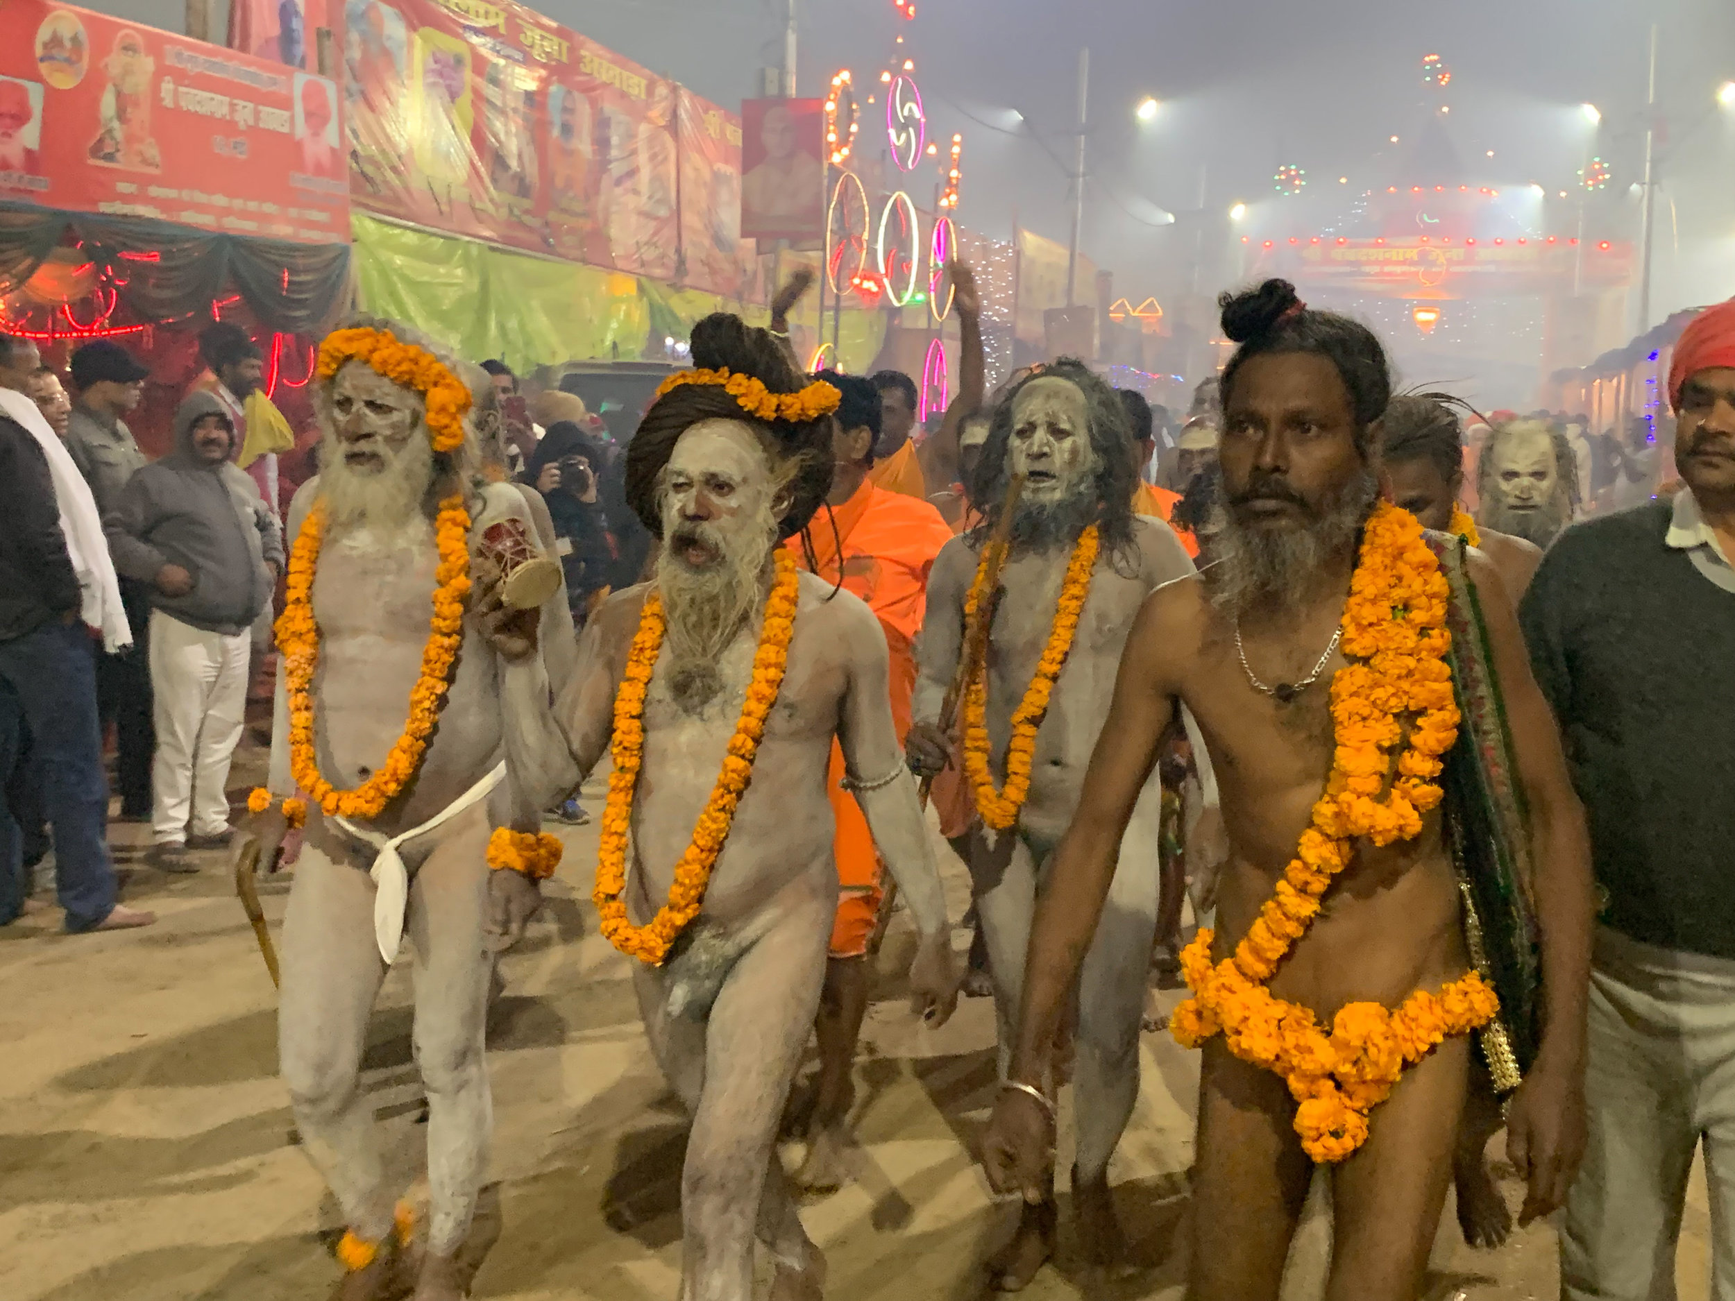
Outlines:
{"type": "MultiPolygon", "coordinates": [[[[1018,810],[1031,794],[1031,765],[1036,756],[1036,732],[1048,713],[1048,697],[1055,689],[1067,654],[1072,650],[1072,635],[1079,626],[1079,614],[1090,597],[1091,571],[1097,567],[1097,526],[1091,524],[1079,534],[1067,562],[1067,578],[1060,586],[1060,604],[1055,607],[1055,623],[1048,631],[1048,645],[1036,663],[1036,675],[1024,689],[1024,699],[1012,715],[1012,739],[1006,742],[1006,786],[994,789],[994,772],[989,768],[987,739],[987,664],[977,664],[975,675],[965,687],[965,777],[975,791],[975,807],[982,822],[994,831],[1006,831],[1018,820],[1018,810]]],[[[987,602],[987,572],[994,545],[982,548],[977,562],[977,576],[965,597],[965,623],[977,618],[977,611],[987,602]]],[[[998,566],[996,566],[998,567],[998,566]]]]}

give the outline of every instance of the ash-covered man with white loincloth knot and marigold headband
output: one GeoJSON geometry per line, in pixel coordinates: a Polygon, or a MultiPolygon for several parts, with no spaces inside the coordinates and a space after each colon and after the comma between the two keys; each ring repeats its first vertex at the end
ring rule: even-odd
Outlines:
{"type": "Polygon", "coordinates": [[[305,819],[278,1046],[304,1150],[347,1225],[338,1301],[399,1296],[408,1277],[416,1301],[467,1294],[456,1251],[493,1126],[491,949],[522,935],[559,859],[507,831],[538,826],[526,791],[566,749],[524,631],[534,612],[501,605],[488,559],[491,531],[534,536],[536,524],[517,487],[477,475],[470,406],[460,363],[397,323],[354,317],[319,347],[321,474],[290,508],[271,775],[248,800],[250,838],[271,862],[305,819]],[[420,1263],[357,1084],[373,1001],[406,933],[429,1098],[420,1263]]]}

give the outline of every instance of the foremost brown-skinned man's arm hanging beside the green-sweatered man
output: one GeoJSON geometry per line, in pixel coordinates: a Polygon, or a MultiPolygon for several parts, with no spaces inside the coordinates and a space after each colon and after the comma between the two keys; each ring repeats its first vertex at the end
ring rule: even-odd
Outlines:
{"type": "Polygon", "coordinates": [[[1494,670],[1511,723],[1518,782],[1530,807],[1530,857],[1542,932],[1542,1046],[1506,1110],[1506,1147],[1529,1190],[1520,1223],[1567,1200],[1584,1157],[1584,1008],[1591,982],[1591,840],[1548,701],[1530,673],[1499,571],[1471,553],[1494,670]]]}

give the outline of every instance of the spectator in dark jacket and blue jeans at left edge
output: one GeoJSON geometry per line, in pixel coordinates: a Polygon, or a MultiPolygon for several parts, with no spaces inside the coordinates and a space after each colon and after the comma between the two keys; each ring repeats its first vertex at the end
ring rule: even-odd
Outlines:
{"type": "MultiPolygon", "coordinates": [[[[95,647],[80,604],[49,461],[29,430],[0,416],[0,777],[12,772],[28,729],[66,930],[147,926],[153,914],[115,902],[95,647]]],[[[5,788],[0,781],[0,926],[29,897],[5,788]]]]}

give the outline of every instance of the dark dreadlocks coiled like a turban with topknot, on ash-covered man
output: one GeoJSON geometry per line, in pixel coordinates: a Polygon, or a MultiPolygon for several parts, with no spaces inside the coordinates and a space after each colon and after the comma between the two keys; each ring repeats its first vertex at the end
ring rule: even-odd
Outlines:
{"type": "MultiPolygon", "coordinates": [[[[692,328],[692,364],[748,375],[774,394],[807,387],[789,354],[769,331],[750,326],[730,312],[711,312],[692,328]]],[[[734,420],[751,425],[770,453],[789,505],[779,529],[784,538],[800,533],[831,491],[831,416],[793,423],[760,420],[741,409],[722,385],[684,383],[658,397],[638,422],[626,446],[626,503],[640,522],[663,536],[659,501],[663,467],[675,454],[680,435],[704,420],[734,420]]]]}

